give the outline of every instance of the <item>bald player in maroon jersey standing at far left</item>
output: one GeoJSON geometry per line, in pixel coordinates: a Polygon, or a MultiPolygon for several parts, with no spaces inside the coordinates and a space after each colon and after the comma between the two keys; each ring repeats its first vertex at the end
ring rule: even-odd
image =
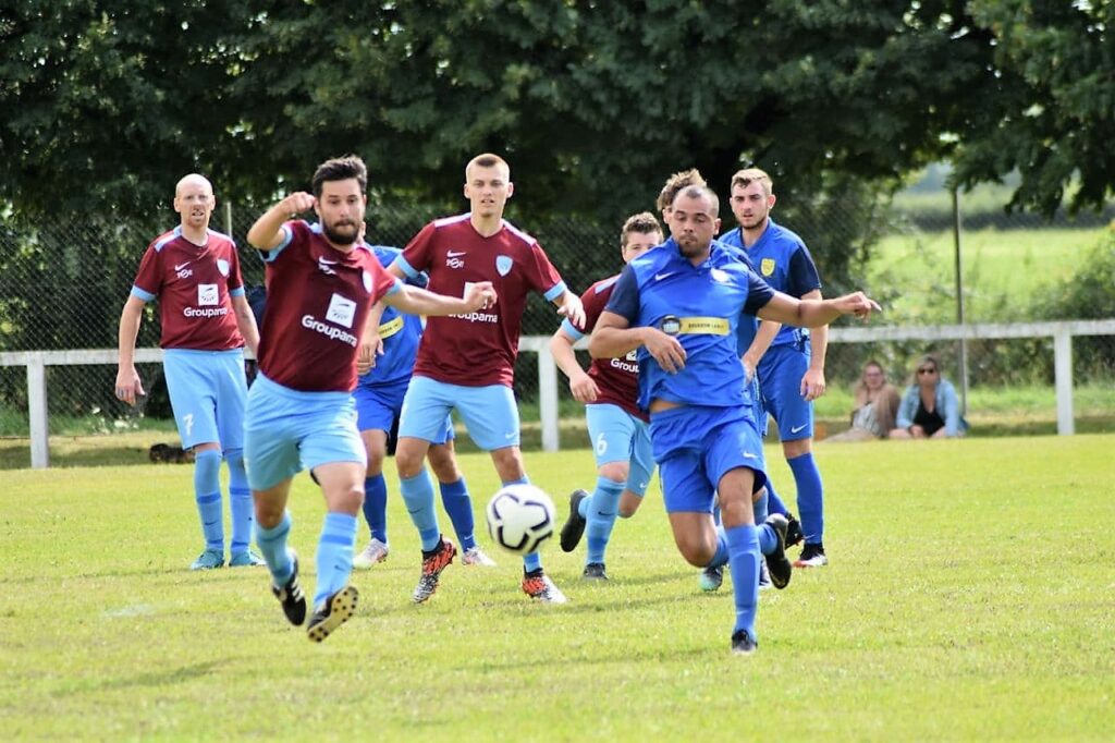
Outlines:
{"type": "Polygon", "coordinates": [[[252,501],[244,473],[244,344],[255,353],[259,331],[244,298],[236,245],[209,229],[213,185],[196,173],[178,181],[174,211],[181,223],[154,240],[139,263],[120,313],[116,397],[135,405],[143,383],[135,367],[144,306],[159,302],[159,346],[171,408],[183,448],[194,451],[194,500],[205,549],[191,570],[224,565],[221,460],[229,463],[232,513],[230,567],[263,565],[251,551],[252,501]]]}

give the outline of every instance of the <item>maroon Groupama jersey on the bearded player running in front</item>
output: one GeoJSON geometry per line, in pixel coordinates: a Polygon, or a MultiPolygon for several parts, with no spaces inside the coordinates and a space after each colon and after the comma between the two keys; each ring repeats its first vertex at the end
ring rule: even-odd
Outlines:
{"type": "Polygon", "coordinates": [[[401,284],[365,244],[341,252],[302,220],[282,230],[282,244],[260,251],[268,263],[260,372],[300,392],[352,392],[368,310],[401,284]]]}

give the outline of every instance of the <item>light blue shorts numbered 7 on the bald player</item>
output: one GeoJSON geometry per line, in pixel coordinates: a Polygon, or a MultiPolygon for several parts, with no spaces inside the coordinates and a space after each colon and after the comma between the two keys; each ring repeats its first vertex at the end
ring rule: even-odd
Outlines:
{"type": "Polygon", "coordinates": [[[209,442],[224,451],[244,447],[248,378],[242,349],[168,348],[163,370],[183,448],[209,442]]]}

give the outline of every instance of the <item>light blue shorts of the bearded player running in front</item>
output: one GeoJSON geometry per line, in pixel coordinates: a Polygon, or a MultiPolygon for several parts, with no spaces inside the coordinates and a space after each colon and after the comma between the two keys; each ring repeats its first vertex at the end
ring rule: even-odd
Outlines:
{"type": "Polygon", "coordinates": [[[266,490],[303,467],[368,464],[356,430],[356,405],[342,392],[299,392],[262,374],[248,393],[244,462],[252,490],[266,490]]]}

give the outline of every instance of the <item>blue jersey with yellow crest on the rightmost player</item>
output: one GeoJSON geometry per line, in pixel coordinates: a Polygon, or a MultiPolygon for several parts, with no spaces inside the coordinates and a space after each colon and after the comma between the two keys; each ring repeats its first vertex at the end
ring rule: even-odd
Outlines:
{"type": "MultiPolygon", "coordinates": [[[[750,248],[744,247],[743,228],[736,228],[720,235],[726,244],[743,250],[752,260],[759,276],[774,289],[801,299],[814,289],[821,288],[821,277],[817,267],[809,255],[809,249],[797,234],[767,219],[767,229],[750,248]]],[[[746,328],[745,328],[746,330],[746,328]]],[[[770,342],[772,346],[801,342],[809,335],[808,330],[784,325],[770,342]]],[[[755,338],[754,328],[748,337],[740,334],[739,353],[743,354],[755,338]]]]}

